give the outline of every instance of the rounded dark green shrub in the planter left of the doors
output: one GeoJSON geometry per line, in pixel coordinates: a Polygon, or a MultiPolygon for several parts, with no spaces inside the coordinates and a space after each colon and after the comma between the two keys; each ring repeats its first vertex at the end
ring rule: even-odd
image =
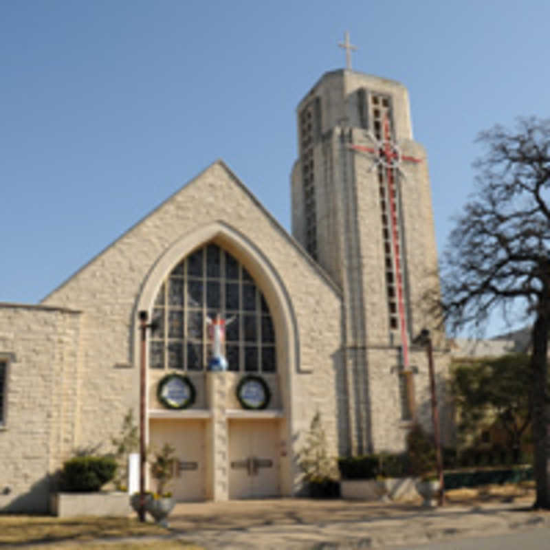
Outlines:
{"type": "Polygon", "coordinates": [[[116,461],[112,456],[75,456],[63,464],[61,490],[92,492],[115,476],[116,461]]]}

